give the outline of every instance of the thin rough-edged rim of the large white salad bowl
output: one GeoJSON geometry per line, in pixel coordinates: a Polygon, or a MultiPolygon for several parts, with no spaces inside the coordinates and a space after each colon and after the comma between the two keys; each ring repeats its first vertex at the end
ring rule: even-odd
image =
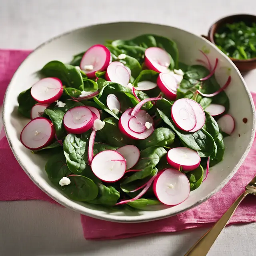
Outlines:
{"type": "MultiPolygon", "coordinates": [[[[89,28],[89,27],[93,27],[93,26],[99,26],[99,25],[112,25],[112,24],[117,24],[117,23],[121,23],[121,24],[146,24],[146,25],[155,25],[155,26],[164,26],[166,28],[174,28],[176,30],[181,30],[183,32],[186,32],[188,34],[191,34],[193,36],[196,36],[197,38],[200,38],[201,40],[204,40],[206,42],[206,44],[212,44],[212,42],[210,42],[209,40],[203,38],[202,36],[198,36],[194,33],[188,32],[186,30],[180,29],[180,28],[176,28],[173,26],[168,26],[168,25],[164,25],[164,24],[156,24],[156,23],[152,23],[152,22],[131,22],[131,21],[122,21],[122,22],[107,22],[107,23],[96,23],[96,24],[91,24],[90,26],[83,26],[80,28],[75,28],[72,29],[68,32],[62,33],[58,36],[55,36],[53,38],[50,38],[49,40],[47,40],[46,42],[43,42],[42,44],[40,44],[38,47],[36,47],[30,54],[28,54],[28,56],[22,61],[22,63],[18,66],[17,70],[15,71],[14,75],[18,72],[18,70],[20,69],[20,66],[23,64],[23,62],[26,61],[26,59],[33,54],[36,50],[42,48],[44,45],[52,42],[53,40],[56,40],[58,38],[61,38],[63,36],[66,36],[68,34],[71,34],[77,30],[83,30],[85,28],[89,28]]],[[[8,140],[8,143],[10,145],[10,148],[12,150],[12,153],[14,154],[16,160],[18,161],[18,163],[20,164],[20,166],[22,167],[22,169],[24,170],[24,172],[26,172],[26,174],[28,175],[28,177],[32,180],[32,182],[34,182],[34,184],[36,184],[36,186],[38,186],[44,193],[46,193],[48,196],[50,196],[50,198],[54,199],[56,202],[58,202],[59,204],[61,204],[62,206],[69,208],[75,212],[79,212],[80,214],[86,215],[86,216],[90,216],[92,218],[96,218],[96,219],[100,219],[100,220],[106,220],[106,221],[110,221],[110,222],[120,222],[120,223],[139,223],[139,222],[150,222],[150,221],[154,221],[154,220],[160,220],[160,219],[164,219],[164,218],[168,218],[171,216],[175,216],[177,214],[180,214],[182,212],[185,212],[187,210],[190,210],[192,208],[194,208],[195,206],[198,206],[199,204],[201,204],[202,202],[206,201],[208,198],[210,198],[212,195],[214,195],[216,192],[218,192],[220,189],[222,189],[227,183],[228,181],[234,176],[234,174],[236,173],[236,171],[238,170],[238,168],[242,165],[242,163],[244,162],[246,156],[248,155],[250,148],[252,146],[252,143],[254,141],[254,136],[255,136],[255,132],[256,132],[256,118],[255,118],[255,106],[254,106],[254,102],[252,99],[252,95],[250,94],[250,91],[248,90],[248,87],[244,81],[244,78],[242,77],[242,75],[240,74],[238,68],[235,66],[235,64],[230,60],[230,58],[228,56],[226,56],[226,54],[224,54],[222,51],[220,51],[218,49],[218,47],[215,44],[212,44],[212,46],[219,52],[219,54],[221,54],[222,56],[224,56],[224,58],[226,58],[226,60],[228,60],[228,62],[233,66],[233,68],[236,70],[236,72],[238,73],[238,76],[240,77],[240,79],[242,80],[243,84],[244,84],[244,88],[246,90],[246,93],[248,94],[249,100],[250,100],[250,104],[252,106],[252,114],[254,116],[253,119],[253,123],[252,123],[252,131],[251,131],[251,135],[250,135],[250,141],[248,143],[248,146],[246,147],[246,150],[244,151],[244,153],[242,154],[239,162],[236,164],[236,166],[233,168],[233,170],[230,172],[230,174],[226,177],[226,179],[224,179],[220,185],[218,187],[216,187],[212,192],[210,192],[209,194],[207,194],[206,196],[204,196],[204,198],[196,201],[193,204],[190,204],[189,206],[187,206],[186,208],[184,208],[183,210],[176,210],[173,213],[165,213],[165,214],[159,214],[157,212],[155,212],[154,216],[151,218],[145,217],[144,215],[140,215],[140,216],[136,216],[136,220],[134,220],[134,216],[118,216],[118,215],[111,215],[111,214],[94,214],[94,213],[90,213],[90,211],[86,211],[88,210],[86,208],[86,206],[83,207],[84,210],[80,210],[78,206],[73,206],[72,204],[77,204],[76,201],[71,200],[70,198],[68,199],[68,203],[62,202],[61,199],[58,198],[58,196],[54,196],[52,194],[50,194],[46,188],[44,188],[42,185],[40,185],[36,180],[34,180],[34,178],[30,175],[30,173],[26,170],[26,167],[24,166],[24,164],[22,163],[22,160],[18,157],[18,155],[16,154],[16,150],[14,149],[12,142],[10,141],[10,136],[8,134],[7,131],[7,127],[6,127],[6,121],[5,121],[5,109],[6,109],[6,95],[8,94],[8,90],[10,89],[10,84],[12,83],[13,77],[10,80],[8,87],[6,89],[5,95],[4,95],[4,101],[3,101],[3,107],[2,107],[2,119],[3,119],[3,126],[4,126],[4,131],[6,134],[6,138],[8,140]],[[121,217],[121,218],[120,218],[121,217]],[[122,218],[122,217],[126,217],[126,218],[122,218]]],[[[53,186],[53,185],[52,185],[53,186]]]]}

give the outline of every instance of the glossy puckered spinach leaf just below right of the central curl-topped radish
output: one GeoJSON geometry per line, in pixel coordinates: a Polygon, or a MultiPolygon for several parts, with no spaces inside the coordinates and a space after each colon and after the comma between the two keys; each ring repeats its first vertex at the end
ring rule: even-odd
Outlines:
{"type": "Polygon", "coordinates": [[[166,146],[174,142],[174,132],[168,128],[160,127],[146,139],[140,140],[137,144],[138,148],[144,149],[150,146],[166,146]]]}

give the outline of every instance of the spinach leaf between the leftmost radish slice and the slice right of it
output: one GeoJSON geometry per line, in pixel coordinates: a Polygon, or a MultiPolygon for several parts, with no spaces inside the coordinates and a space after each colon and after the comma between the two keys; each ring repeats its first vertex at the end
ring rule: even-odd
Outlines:
{"type": "Polygon", "coordinates": [[[65,137],[66,135],[66,130],[63,125],[63,117],[64,117],[64,112],[60,108],[53,108],[53,109],[48,109],[46,108],[44,110],[44,113],[50,117],[52,120],[52,123],[54,124],[55,131],[56,131],[56,136],[58,137],[59,140],[65,137]]]}

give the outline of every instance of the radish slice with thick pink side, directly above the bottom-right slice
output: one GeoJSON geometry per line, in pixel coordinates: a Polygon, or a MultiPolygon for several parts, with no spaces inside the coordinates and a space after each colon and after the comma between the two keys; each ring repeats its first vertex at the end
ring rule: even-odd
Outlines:
{"type": "Polygon", "coordinates": [[[196,151],[190,148],[179,147],[168,151],[167,162],[177,170],[181,166],[184,171],[192,171],[198,168],[201,158],[196,151]]]}

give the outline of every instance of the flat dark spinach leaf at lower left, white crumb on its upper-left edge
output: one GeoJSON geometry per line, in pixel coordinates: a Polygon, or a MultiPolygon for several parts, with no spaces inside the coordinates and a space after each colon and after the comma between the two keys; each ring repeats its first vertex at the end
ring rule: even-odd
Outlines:
{"type": "Polygon", "coordinates": [[[90,201],[98,196],[98,186],[89,178],[82,175],[68,176],[71,183],[60,189],[72,200],[90,201]]]}

